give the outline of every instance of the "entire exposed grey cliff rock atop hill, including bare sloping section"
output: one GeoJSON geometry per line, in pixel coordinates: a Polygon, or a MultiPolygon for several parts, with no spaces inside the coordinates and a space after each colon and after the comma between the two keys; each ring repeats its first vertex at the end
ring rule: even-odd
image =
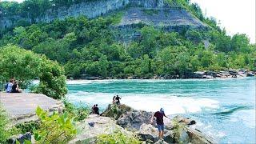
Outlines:
{"type": "Polygon", "coordinates": [[[197,18],[194,18],[186,10],[181,8],[171,8],[166,6],[164,0],[98,0],[95,2],[82,2],[58,9],[46,10],[38,18],[26,18],[14,16],[12,18],[1,18],[0,29],[13,26],[15,23],[23,21],[29,22],[51,22],[54,19],[65,19],[68,17],[78,17],[85,15],[87,18],[96,18],[114,10],[126,9],[119,28],[127,28],[139,23],[153,26],[164,26],[172,29],[174,26],[205,27],[197,18]]]}

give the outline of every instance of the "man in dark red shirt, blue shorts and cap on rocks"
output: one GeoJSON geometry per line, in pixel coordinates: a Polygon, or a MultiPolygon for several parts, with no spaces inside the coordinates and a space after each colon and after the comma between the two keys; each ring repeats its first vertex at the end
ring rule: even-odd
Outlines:
{"type": "MultiPolygon", "coordinates": [[[[155,112],[152,115],[152,118],[151,118],[151,124],[153,123],[154,117],[157,119],[159,139],[163,138],[163,131],[165,129],[165,126],[164,126],[164,123],[163,123],[163,117],[164,116],[166,117],[165,111],[163,110],[163,108],[161,108],[160,111],[155,112]]],[[[168,117],[166,117],[166,118],[168,118],[168,117]]]]}

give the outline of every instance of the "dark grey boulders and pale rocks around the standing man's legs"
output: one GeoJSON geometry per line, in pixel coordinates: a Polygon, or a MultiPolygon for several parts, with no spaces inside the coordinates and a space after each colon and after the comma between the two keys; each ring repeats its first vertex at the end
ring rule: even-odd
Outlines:
{"type": "MultiPolygon", "coordinates": [[[[103,113],[105,116],[113,116],[113,111],[110,113],[111,106],[108,106],[108,109],[103,113]],[[108,115],[110,114],[110,115],[108,115]]],[[[159,143],[158,142],[158,130],[156,128],[156,123],[153,125],[150,124],[150,118],[154,114],[153,112],[146,112],[143,110],[134,110],[126,105],[121,105],[118,107],[119,111],[122,111],[122,114],[118,116],[116,123],[118,126],[122,126],[123,129],[133,131],[135,134],[141,138],[142,141],[148,143],[159,143]]],[[[175,130],[174,122],[168,118],[164,118],[164,123],[166,130],[164,131],[164,142],[174,143],[178,141],[182,142],[192,142],[192,143],[215,143],[213,138],[207,137],[202,134],[199,130],[193,129],[190,125],[196,124],[193,119],[182,118],[176,116],[173,119],[176,123],[176,126],[182,126],[182,131],[177,132],[175,130]],[[175,133],[180,133],[180,138],[177,139],[175,133]]]]}

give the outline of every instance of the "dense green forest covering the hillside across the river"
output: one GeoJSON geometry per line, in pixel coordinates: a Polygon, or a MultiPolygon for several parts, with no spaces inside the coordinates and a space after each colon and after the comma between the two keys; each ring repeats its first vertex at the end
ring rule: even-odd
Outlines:
{"type": "Polygon", "coordinates": [[[138,38],[123,43],[118,42],[118,29],[113,26],[122,17],[118,13],[104,18],[81,16],[16,26],[2,31],[0,46],[12,43],[46,54],[74,78],[190,78],[197,70],[255,70],[255,45],[250,44],[245,34],[230,37],[213,19],[204,18],[197,5],[176,1],[185,2],[182,6],[205,22],[209,30],[184,28],[178,33],[142,25],[135,29],[140,34],[138,38]]]}

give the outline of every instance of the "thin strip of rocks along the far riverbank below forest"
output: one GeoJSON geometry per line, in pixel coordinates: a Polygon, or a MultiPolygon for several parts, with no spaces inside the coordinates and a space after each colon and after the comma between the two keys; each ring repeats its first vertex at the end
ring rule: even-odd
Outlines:
{"type": "Polygon", "coordinates": [[[180,75],[154,75],[153,77],[138,78],[136,76],[123,77],[123,78],[112,78],[112,77],[92,77],[82,75],[81,78],[75,79],[70,77],[69,80],[103,80],[103,79],[192,79],[192,78],[245,78],[255,77],[256,71],[250,70],[220,70],[220,71],[195,71],[193,74],[187,76],[180,75]]]}

